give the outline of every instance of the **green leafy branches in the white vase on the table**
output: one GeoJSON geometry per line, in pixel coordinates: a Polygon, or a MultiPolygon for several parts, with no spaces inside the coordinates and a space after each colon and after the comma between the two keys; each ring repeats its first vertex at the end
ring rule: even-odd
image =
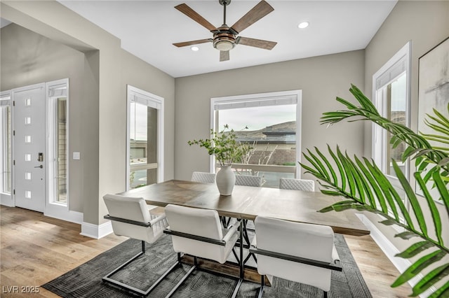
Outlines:
{"type": "Polygon", "coordinates": [[[210,139],[195,139],[187,143],[190,146],[199,145],[206,148],[209,155],[215,155],[221,166],[230,166],[233,162],[240,161],[249,147],[236,141],[237,136],[234,129],[225,132],[226,129],[229,129],[228,125],[225,125],[221,132],[214,132],[213,129],[210,129],[210,139]]]}

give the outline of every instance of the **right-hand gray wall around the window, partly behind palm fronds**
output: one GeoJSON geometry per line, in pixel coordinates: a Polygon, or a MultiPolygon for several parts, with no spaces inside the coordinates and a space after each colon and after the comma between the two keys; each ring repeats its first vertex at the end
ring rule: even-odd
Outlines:
{"type": "MultiPolygon", "coordinates": [[[[408,41],[412,41],[411,50],[411,99],[410,128],[417,131],[418,107],[418,59],[449,36],[449,1],[398,1],[389,17],[384,21],[377,34],[366,48],[365,86],[366,94],[371,97],[373,74],[382,67],[408,41]]],[[[366,155],[371,154],[371,130],[365,129],[366,155]]],[[[414,171],[410,166],[410,177],[414,171]]],[[[415,182],[412,179],[414,187],[415,182]]],[[[427,204],[422,201],[422,206],[427,204]]],[[[442,205],[438,205],[441,215],[446,214],[442,205]]],[[[386,234],[400,250],[410,245],[410,241],[401,241],[393,237],[394,229],[378,224],[379,218],[369,215],[377,227],[386,234]]],[[[429,215],[428,215],[429,216],[429,215]]],[[[429,218],[429,223],[431,218],[429,218]]],[[[449,242],[449,222],[443,217],[445,243],[449,242]]]]}

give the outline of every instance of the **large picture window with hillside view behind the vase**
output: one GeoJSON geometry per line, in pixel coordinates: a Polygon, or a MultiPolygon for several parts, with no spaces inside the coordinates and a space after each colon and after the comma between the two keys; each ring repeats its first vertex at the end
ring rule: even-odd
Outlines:
{"type": "MultiPolygon", "coordinates": [[[[264,187],[279,187],[279,178],[299,177],[301,91],[249,94],[212,99],[211,127],[234,129],[250,147],[237,175],[263,177],[264,187]]],[[[217,171],[211,157],[211,171],[217,171]]]]}

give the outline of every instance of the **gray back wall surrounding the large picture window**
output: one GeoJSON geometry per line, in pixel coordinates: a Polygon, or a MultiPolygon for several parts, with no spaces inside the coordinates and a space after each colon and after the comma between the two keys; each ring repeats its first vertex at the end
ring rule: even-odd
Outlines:
{"type": "Polygon", "coordinates": [[[314,146],[326,150],[328,143],[361,155],[363,125],[342,123],[326,128],[319,119],[322,113],[340,108],[335,97],[353,101],[349,87],[353,83],[363,90],[364,71],[364,51],[358,50],[177,78],[175,178],[189,180],[192,171],[209,169],[206,150],[190,147],[187,141],[208,137],[211,97],[302,90],[301,151],[314,146]]]}

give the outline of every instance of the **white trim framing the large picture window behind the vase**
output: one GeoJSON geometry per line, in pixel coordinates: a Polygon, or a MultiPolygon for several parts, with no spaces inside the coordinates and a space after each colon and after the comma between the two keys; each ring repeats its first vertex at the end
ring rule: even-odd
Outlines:
{"type": "MultiPolygon", "coordinates": [[[[210,129],[216,129],[215,120],[217,107],[241,105],[242,102],[270,101],[278,104],[296,104],[296,164],[301,161],[301,121],[302,121],[302,90],[289,90],[256,94],[235,95],[230,97],[212,97],[210,99],[210,129]]],[[[210,173],[215,173],[215,158],[210,155],[210,173]]],[[[301,177],[300,165],[296,165],[296,177],[301,177]]]]}

